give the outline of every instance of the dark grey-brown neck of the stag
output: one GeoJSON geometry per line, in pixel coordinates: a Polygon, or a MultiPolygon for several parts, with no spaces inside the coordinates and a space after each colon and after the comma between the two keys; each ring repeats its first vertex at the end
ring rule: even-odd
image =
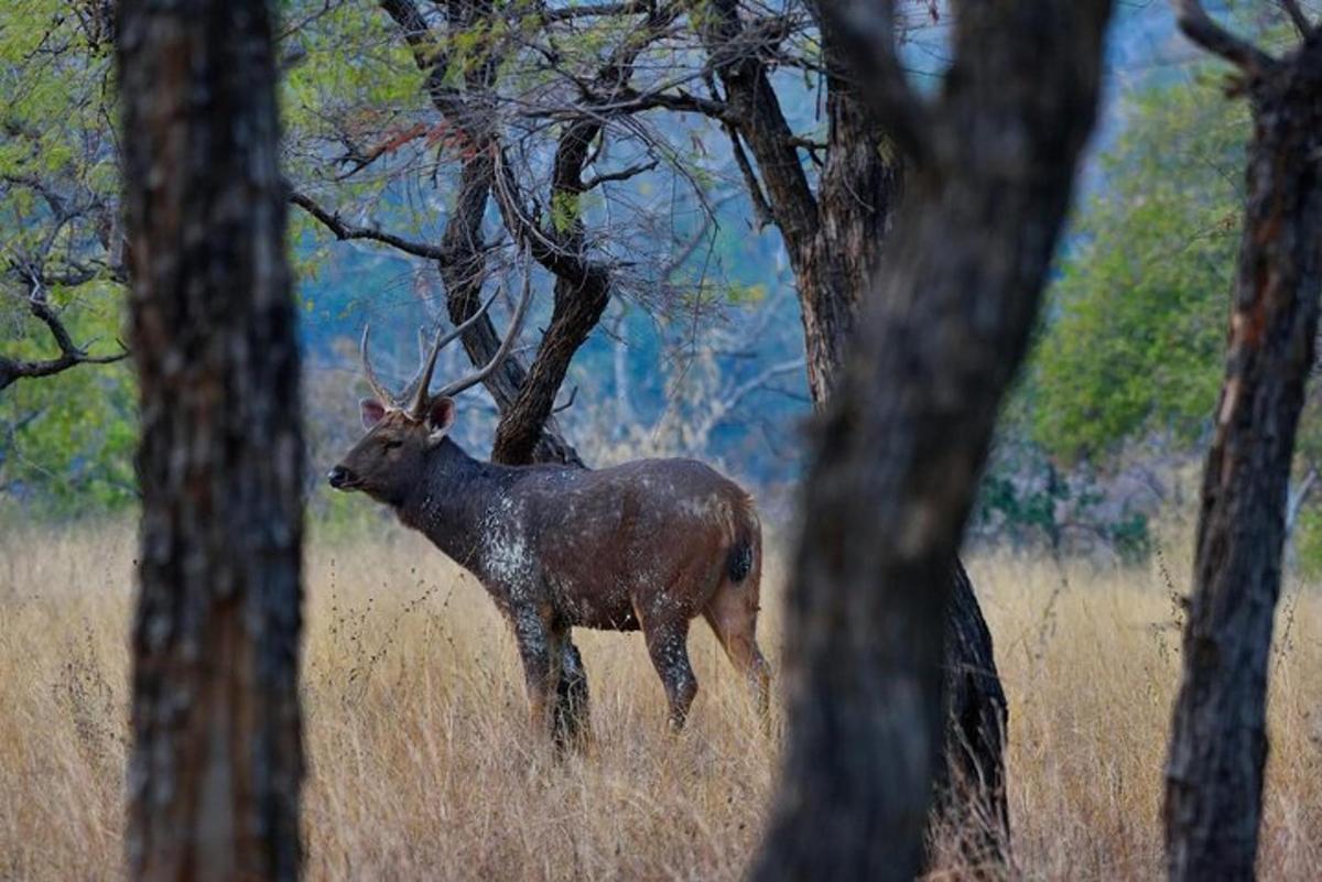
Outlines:
{"type": "Polygon", "coordinates": [[[422,481],[399,506],[399,520],[476,573],[492,502],[509,491],[514,471],[512,466],[475,459],[444,438],[432,448],[422,481]]]}

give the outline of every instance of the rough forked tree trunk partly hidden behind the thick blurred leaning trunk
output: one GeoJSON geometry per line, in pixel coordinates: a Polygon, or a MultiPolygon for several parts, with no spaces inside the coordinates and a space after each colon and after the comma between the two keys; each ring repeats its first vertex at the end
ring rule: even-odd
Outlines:
{"type": "MultiPolygon", "coordinates": [[[[793,147],[765,69],[739,40],[736,0],[720,0],[722,18],[709,25],[707,45],[736,110],[736,151],[746,141],[761,172],[761,184],[747,181],[752,197],[765,202],[765,214],[781,230],[804,323],[804,351],[813,408],[824,411],[832,397],[859,305],[875,275],[880,246],[890,232],[894,207],[903,187],[903,157],[884,127],[866,106],[846,70],[846,42],[829,18],[818,16],[826,78],[826,158],[816,195],[793,147]]],[[[1005,796],[1005,731],[1007,709],[995,667],[992,632],[977,597],[954,562],[952,589],[960,602],[951,607],[947,640],[949,693],[949,763],[943,776],[936,827],[960,828],[969,860],[986,861],[1002,852],[1009,834],[1005,796]],[[977,672],[974,676],[972,672],[977,672]],[[989,726],[995,721],[995,737],[989,726]],[[973,775],[972,768],[978,774],[973,775]],[[945,788],[953,784],[954,790],[945,788]],[[994,820],[989,825],[982,821],[994,820]],[[960,825],[978,821],[977,831],[960,825]]],[[[947,763],[939,763],[943,770],[947,763]]]]}

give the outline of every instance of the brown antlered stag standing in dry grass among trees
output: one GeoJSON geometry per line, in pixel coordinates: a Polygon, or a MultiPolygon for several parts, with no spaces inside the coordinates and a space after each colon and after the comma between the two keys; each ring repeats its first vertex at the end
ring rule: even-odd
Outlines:
{"type": "Polygon", "coordinates": [[[494,298],[438,333],[398,399],[377,379],[364,329],[362,367],[375,397],[361,401],[368,434],[330,470],[330,486],[390,506],[477,577],[513,627],[534,726],[555,726],[562,665],[578,663],[568,639],[578,626],[641,628],[670,725],[681,728],[698,691],[687,652],[689,622],[698,614],[765,714],[769,677],[756,642],[761,527],[748,494],[693,459],[599,470],[505,466],[469,457],[448,437],[455,396],[490,375],[518,337],[527,277],[490,362],[430,393],[436,355],[494,298]]]}

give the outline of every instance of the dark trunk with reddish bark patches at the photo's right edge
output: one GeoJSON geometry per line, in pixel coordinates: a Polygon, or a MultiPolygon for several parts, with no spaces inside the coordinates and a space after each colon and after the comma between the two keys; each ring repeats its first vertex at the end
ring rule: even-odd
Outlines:
{"type": "Polygon", "coordinates": [[[1322,34],[1278,62],[1248,58],[1248,205],[1166,767],[1170,878],[1187,882],[1255,874],[1286,487],[1322,288],[1322,34]]]}

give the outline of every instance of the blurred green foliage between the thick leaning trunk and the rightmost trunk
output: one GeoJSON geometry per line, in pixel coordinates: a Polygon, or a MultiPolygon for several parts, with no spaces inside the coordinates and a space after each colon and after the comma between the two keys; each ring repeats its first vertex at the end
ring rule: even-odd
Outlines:
{"type": "Polygon", "coordinates": [[[1032,438],[1064,461],[1190,444],[1220,386],[1247,111],[1207,78],[1149,88],[1122,120],[1025,383],[1032,438]]]}

